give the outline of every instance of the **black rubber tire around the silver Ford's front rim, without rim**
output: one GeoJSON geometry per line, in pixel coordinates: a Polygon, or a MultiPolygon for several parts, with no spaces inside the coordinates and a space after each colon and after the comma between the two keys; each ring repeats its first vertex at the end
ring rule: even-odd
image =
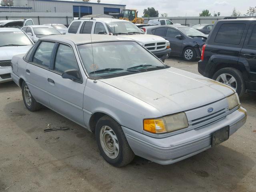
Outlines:
{"type": "Polygon", "coordinates": [[[130,148],[120,124],[118,124],[118,122],[116,122],[110,116],[105,115],[98,120],[96,124],[95,135],[100,153],[109,164],[115,167],[122,167],[126,166],[134,159],[134,152],[130,148]],[[119,153],[118,156],[114,159],[107,156],[100,144],[100,130],[103,126],[109,126],[114,131],[118,139],[119,153]]]}

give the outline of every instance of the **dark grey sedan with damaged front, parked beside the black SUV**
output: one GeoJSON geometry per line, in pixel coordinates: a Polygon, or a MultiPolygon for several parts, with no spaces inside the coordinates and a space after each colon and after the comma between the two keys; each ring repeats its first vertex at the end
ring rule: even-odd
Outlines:
{"type": "Polygon", "coordinates": [[[186,61],[200,58],[202,46],[208,35],[187,26],[147,26],[143,30],[146,34],[161,36],[170,42],[171,55],[182,56],[186,61]]]}

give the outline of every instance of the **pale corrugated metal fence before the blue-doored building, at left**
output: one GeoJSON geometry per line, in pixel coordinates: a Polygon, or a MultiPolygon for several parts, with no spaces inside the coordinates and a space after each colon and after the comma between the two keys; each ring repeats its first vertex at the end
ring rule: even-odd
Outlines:
{"type": "Polygon", "coordinates": [[[59,23],[70,24],[73,20],[73,13],[42,13],[42,12],[0,12],[0,20],[18,20],[32,18],[34,24],[59,23]]]}

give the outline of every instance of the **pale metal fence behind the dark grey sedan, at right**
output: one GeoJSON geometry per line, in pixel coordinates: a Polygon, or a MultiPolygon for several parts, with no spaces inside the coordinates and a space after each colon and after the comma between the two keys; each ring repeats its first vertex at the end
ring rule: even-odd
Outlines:
{"type": "Polygon", "coordinates": [[[147,24],[152,19],[170,19],[173,23],[180,23],[182,25],[193,26],[195,24],[214,24],[224,17],[150,17],[144,18],[144,23],[147,24]]]}

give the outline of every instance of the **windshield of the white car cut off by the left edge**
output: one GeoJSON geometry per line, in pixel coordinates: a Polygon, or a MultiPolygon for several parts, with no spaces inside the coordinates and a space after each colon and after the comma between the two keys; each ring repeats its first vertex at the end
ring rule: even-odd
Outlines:
{"type": "Polygon", "coordinates": [[[32,45],[24,32],[0,32],[0,47],[32,45]]]}

